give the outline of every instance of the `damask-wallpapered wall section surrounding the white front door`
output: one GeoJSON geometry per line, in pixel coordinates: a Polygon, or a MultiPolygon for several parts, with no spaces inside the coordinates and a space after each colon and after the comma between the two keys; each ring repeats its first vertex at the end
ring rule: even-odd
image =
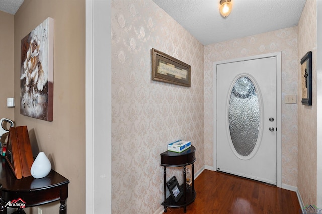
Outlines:
{"type": "Polygon", "coordinates": [[[282,53],[282,183],[297,186],[297,105],[284,104],[285,95],[297,94],[297,27],[205,46],[205,165],[213,166],[214,62],[279,51],[282,53]]]}

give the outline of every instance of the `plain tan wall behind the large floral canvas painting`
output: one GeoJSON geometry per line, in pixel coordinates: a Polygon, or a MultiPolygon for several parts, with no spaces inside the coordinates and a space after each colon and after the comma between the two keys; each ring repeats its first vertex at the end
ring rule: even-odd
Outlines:
{"type": "MultiPolygon", "coordinates": [[[[25,0],[14,27],[15,121],[28,126],[32,146],[44,151],[52,168],[70,180],[68,213],[85,213],[85,1],[25,0]],[[47,17],[54,19],[52,122],[23,116],[19,109],[20,42],[47,17]]],[[[43,213],[57,213],[58,207],[59,202],[43,206],[43,213]]]]}

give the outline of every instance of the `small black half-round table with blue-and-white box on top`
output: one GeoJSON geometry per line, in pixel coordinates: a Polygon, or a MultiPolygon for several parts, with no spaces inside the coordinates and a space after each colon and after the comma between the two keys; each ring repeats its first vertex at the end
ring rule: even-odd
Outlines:
{"type": "Polygon", "coordinates": [[[194,165],[193,163],[196,161],[195,157],[196,148],[191,146],[189,149],[177,153],[166,151],[161,153],[161,165],[164,166],[164,193],[165,200],[162,205],[165,207],[165,212],[167,212],[167,207],[184,207],[184,212],[187,211],[187,205],[191,204],[196,199],[196,192],[194,189],[194,165]],[[191,176],[192,176],[192,186],[186,184],[186,166],[191,164],[191,176]],[[183,184],[181,188],[183,189],[183,196],[179,199],[178,202],[175,202],[171,196],[167,198],[166,196],[166,183],[167,183],[167,174],[166,167],[179,167],[183,166],[183,184]]]}

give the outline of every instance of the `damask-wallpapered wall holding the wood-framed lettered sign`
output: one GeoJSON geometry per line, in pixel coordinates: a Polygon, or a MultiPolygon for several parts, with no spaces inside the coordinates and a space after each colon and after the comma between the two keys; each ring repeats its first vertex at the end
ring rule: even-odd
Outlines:
{"type": "MultiPolygon", "coordinates": [[[[163,201],[160,153],[178,139],[204,166],[204,47],[151,0],[113,0],[112,212],[151,213],[163,201]],[[151,80],[151,49],[191,65],[191,87],[151,80]]],[[[182,182],[182,167],[167,168],[182,182]]]]}

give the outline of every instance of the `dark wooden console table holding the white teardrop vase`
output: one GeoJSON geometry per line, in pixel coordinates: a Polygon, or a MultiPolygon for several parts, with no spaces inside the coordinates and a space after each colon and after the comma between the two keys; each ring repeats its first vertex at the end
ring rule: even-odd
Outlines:
{"type": "MultiPolygon", "coordinates": [[[[39,206],[60,200],[59,213],[67,213],[69,180],[51,170],[40,179],[32,176],[16,179],[4,158],[0,164],[0,214],[7,214],[6,204],[10,201],[25,202],[25,207],[39,206]]],[[[14,207],[19,208],[19,207],[14,207]]],[[[24,208],[24,207],[22,207],[24,208]]],[[[17,213],[24,213],[19,208],[17,213]]]]}

